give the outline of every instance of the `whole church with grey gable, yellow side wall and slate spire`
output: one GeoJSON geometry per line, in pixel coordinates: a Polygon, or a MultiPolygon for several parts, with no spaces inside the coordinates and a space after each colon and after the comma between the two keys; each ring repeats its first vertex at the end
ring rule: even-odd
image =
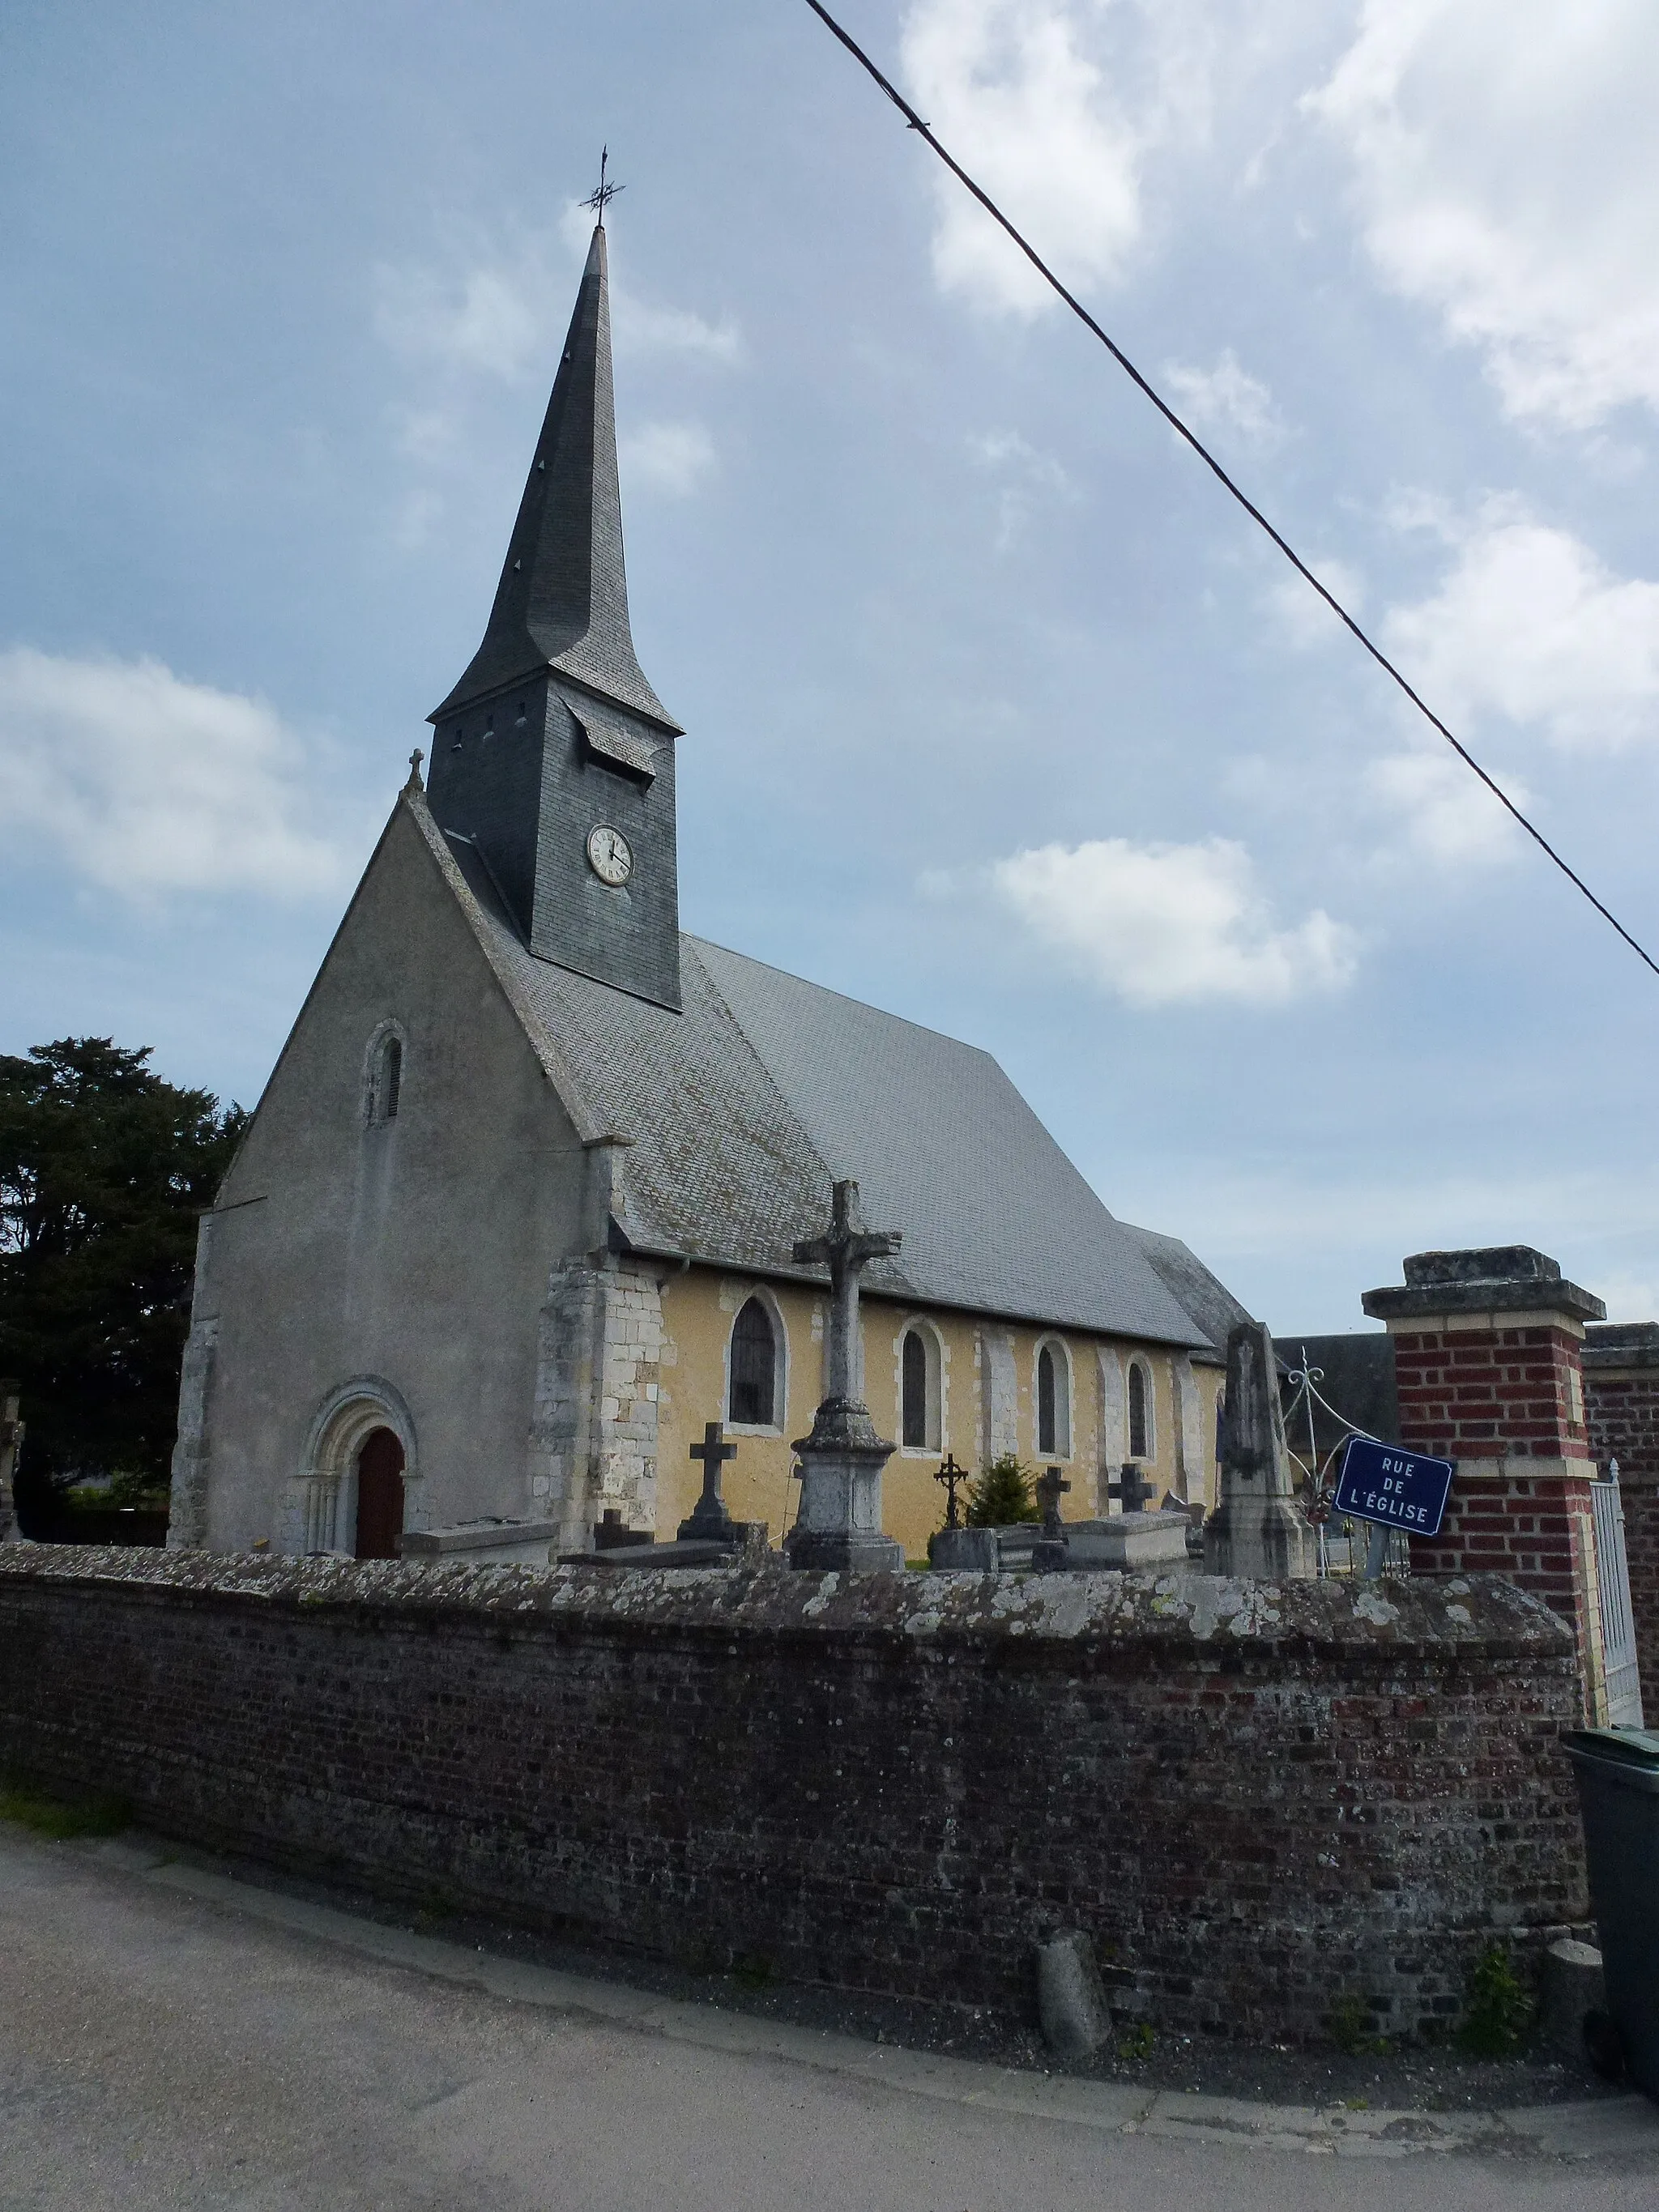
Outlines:
{"type": "Polygon", "coordinates": [[[201,1221],[168,1544],[549,1559],[672,1535],[721,1420],[776,1542],[852,1179],[883,1520],[947,1455],[1214,1500],[1243,1307],[1002,1068],[679,929],[681,728],[635,657],[604,212],[484,639],[429,717],[201,1221]]]}

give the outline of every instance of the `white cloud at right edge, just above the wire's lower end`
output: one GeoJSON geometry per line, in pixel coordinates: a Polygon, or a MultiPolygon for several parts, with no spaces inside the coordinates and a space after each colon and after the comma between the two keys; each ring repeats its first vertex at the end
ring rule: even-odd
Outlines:
{"type": "Polygon", "coordinates": [[[1617,577],[1515,498],[1462,518],[1413,500],[1396,520],[1453,553],[1440,588],[1385,622],[1389,653],[1453,728],[1502,714],[1584,750],[1659,737],[1659,584],[1617,577]]]}

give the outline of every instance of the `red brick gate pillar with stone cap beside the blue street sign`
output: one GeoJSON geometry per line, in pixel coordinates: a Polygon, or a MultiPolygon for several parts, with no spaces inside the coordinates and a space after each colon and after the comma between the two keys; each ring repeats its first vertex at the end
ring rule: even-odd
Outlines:
{"type": "Polygon", "coordinates": [[[1360,1303],[1394,1338],[1400,1442],[1458,1462],[1444,1526],[1411,1537],[1411,1566],[1537,1590],[1573,1621],[1584,1710],[1604,1721],[1582,1345],[1606,1307],[1531,1245],[1418,1252],[1405,1285],[1360,1303]]]}

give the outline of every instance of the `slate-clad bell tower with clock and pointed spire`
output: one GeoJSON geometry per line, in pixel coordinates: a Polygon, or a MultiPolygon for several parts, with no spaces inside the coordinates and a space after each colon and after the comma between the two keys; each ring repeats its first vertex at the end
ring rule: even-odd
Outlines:
{"type": "Polygon", "coordinates": [[[484,641],[427,719],[434,818],[529,949],[679,1011],[681,728],[628,628],[602,199],[484,641]]]}

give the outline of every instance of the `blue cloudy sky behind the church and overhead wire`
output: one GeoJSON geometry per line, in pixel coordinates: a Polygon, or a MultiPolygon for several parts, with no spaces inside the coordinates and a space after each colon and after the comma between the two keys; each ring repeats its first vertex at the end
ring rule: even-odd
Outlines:
{"type": "MultiPolygon", "coordinates": [[[[1659,11],[843,15],[1659,956],[1659,11]]],[[[995,1053],[1281,1334],[1471,1243],[1659,1316],[1659,978],[803,0],[11,0],[0,1051],[259,1095],[602,144],[684,925],[995,1053]]]]}

